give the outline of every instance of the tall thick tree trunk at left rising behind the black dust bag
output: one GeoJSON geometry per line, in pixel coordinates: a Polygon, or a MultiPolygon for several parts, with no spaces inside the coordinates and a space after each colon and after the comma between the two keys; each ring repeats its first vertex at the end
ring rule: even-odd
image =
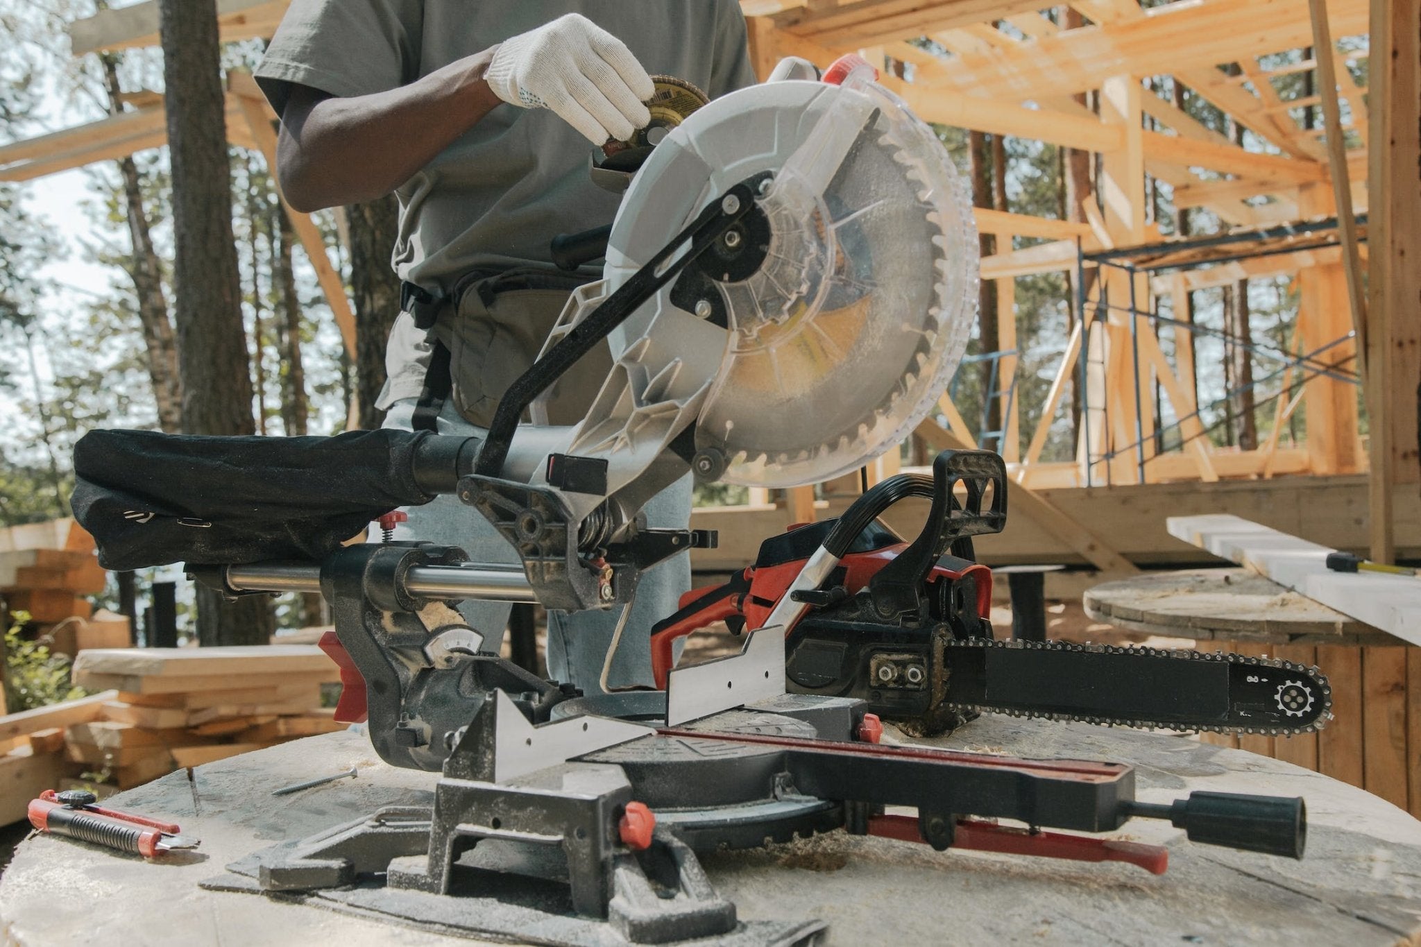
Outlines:
{"type": "MultiPolygon", "coordinates": [[[[252,369],[232,236],[232,169],[217,50],[216,0],[159,0],[168,149],[173,182],[173,288],[182,429],[250,434],[252,369]]],[[[198,586],[202,645],[264,645],[266,596],[225,602],[198,586]]]]}

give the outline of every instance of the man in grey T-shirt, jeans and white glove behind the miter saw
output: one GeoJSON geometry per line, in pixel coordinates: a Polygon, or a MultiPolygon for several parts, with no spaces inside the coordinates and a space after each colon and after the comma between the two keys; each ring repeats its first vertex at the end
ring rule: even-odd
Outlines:
{"type": "MultiPolygon", "coordinates": [[[[277,175],[303,212],[395,193],[402,311],[387,345],[385,426],[483,436],[504,389],[537,358],[564,302],[598,270],[550,264],[551,239],[611,223],[618,197],[588,155],[651,116],[649,74],[712,98],[755,81],[736,0],[293,0],[256,71],[281,118],[277,175]]],[[[611,365],[585,356],[551,390],[576,423],[611,365]]],[[[685,528],[691,478],[645,508],[685,528]]],[[[519,562],[473,507],[408,511],[402,538],[519,562]]],[[[608,686],[651,684],[649,626],[691,586],[686,555],[639,582],[608,686]]],[[[496,650],[506,603],[463,603],[496,650]]],[[[620,611],[549,616],[554,680],[598,693],[620,611]]]]}

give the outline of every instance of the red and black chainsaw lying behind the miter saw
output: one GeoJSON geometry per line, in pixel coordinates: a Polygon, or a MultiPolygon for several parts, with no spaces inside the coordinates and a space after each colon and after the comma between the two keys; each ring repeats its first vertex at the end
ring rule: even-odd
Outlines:
{"type": "Polygon", "coordinates": [[[658,684],[678,639],[725,622],[736,633],[786,629],[787,690],[864,700],[918,734],[979,711],[1272,735],[1310,733],[1331,717],[1327,680],[1292,662],[995,640],[992,572],[973,561],[971,537],[1005,525],[1006,469],[996,454],[944,451],[932,473],[884,480],[838,520],[770,537],[729,582],[686,593],[651,629],[658,684]],[[908,542],[878,515],[915,496],[932,507],[908,542]]]}

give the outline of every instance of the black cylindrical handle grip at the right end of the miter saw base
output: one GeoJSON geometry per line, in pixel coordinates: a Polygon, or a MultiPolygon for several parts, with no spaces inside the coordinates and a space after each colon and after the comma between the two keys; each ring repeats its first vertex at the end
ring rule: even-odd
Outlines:
{"type": "Polygon", "coordinates": [[[1303,858],[1307,808],[1302,797],[1191,792],[1172,805],[1127,802],[1128,815],[1169,819],[1191,842],[1245,852],[1303,858]]]}

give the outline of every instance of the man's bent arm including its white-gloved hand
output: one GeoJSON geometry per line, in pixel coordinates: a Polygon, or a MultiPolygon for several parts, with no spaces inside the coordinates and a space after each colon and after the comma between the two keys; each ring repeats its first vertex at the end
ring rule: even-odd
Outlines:
{"type": "Polygon", "coordinates": [[[654,91],[621,40],[570,13],[388,92],[293,85],[277,175],[297,210],[360,203],[399,187],[502,102],[551,109],[601,145],[651,121],[654,91]]]}

